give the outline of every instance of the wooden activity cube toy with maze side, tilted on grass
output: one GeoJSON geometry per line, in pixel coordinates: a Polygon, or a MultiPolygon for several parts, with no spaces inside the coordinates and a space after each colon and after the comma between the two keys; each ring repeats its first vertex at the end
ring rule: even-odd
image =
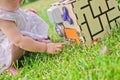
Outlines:
{"type": "Polygon", "coordinates": [[[117,0],[60,0],[47,13],[60,36],[87,46],[108,36],[120,21],[117,0]]]}

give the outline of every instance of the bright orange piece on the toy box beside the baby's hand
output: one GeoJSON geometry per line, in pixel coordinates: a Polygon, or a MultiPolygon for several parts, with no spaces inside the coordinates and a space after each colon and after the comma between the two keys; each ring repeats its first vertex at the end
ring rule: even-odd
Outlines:
{"type": "Polygon", "coordinates": [[[71,29],[71,28],[65,28],[64,33],[68,39],[75,40],[75,43],[79,43],[80,41],[80,36],[77,35],[77,30],[76,29],[71,29]]]}

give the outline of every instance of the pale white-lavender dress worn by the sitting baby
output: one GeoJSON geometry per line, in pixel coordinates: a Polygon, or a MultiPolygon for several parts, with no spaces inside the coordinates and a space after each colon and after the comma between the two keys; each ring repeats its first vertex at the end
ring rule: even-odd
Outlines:
{"type": "MultiPolygon", "coordinates": [[[[24,36],[29,36],[35,40],[48,38],[48,25],[33,12],[25,12],[21,9],[15,12],[0,10],[0,19],[15,22],[24,36]]],[[[0,31],[0,73],[11,65],[11,50],[12,42],[0,31]]]]}

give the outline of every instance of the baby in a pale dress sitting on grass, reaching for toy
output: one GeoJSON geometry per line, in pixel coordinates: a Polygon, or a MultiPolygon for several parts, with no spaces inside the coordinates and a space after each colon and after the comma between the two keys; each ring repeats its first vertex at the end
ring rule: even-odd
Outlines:
{"type": "Polygon", "coordinates": [[[0,73],[25,51],[55,54],[64,43],[48,39],[48,25],[33,11],[23,11],[23,0],[0,0],[0,73]]]}

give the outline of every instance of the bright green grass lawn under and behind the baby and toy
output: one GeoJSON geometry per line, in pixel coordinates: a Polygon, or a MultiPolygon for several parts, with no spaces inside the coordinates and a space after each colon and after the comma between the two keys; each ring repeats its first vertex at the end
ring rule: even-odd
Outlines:
{"type": "MultiPolygon", "coordinates": [[[[50,25],[49,35],[54,42],[58,42],[61,38],[55,33],[46,14],[48,4],[52,1],[39,0],[23,8],[39,10],[42,18],[50,25]]],[[[92,48],[66,45],[63,52],[57,55],[26,53],[20,63],[22,66],[16,65],[18,76],[11,77],[5,73],[0,76],[0,80],[120,80],[120,27],[92,48]],[[101,55],[99,51],[104,45],[109,51],[101,55]]]]}

